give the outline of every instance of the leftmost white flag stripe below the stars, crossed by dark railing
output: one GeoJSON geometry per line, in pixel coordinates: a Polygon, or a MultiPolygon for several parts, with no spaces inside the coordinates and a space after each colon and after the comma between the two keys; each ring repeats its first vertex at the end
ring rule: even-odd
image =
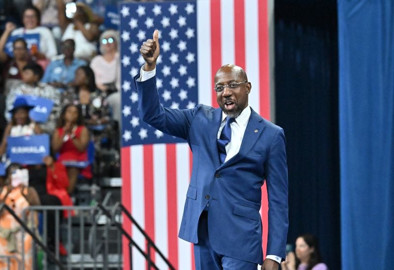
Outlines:
{"type": "MultiPolygon", "coordinates": [[[[142,145],[131,146],[131,215],[142,228],[145,227],[143,156],[142,145]]],[[[132,237],[145,250],[145,238],[135,226],[132,227],[132,237]]],[[[145,265],[144,257],[136,248],[133,248],[132,255],[134,269],[145,265]]]]}

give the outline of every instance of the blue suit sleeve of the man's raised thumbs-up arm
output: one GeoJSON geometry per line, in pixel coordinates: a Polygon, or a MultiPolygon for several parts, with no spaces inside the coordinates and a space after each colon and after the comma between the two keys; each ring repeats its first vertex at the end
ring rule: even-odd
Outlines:
{"type": "Polygon", "coordinates": [[[164,108],[160,103],[156,88],[156,76],[147,81],[137,81],[140,75],[134,77],[138,92],[138,111],[141,119],[152,127],[172,136],[188,139],[190,125],[200,108],[171,109],[164,108]]]}

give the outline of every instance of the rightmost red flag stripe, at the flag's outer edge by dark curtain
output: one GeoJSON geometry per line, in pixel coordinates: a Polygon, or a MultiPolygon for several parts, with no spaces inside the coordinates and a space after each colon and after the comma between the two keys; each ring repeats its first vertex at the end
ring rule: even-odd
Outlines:
{"type": "MultiPolygon", "coordinates": [[[[259,1],[259,77],[260,115],[270,119],[269,107],[269,35],[267,1],[259,1]]],[[[267,185],[262,187],[263,256],[265,258],[268,241],[268,196],[267,185]]]]}

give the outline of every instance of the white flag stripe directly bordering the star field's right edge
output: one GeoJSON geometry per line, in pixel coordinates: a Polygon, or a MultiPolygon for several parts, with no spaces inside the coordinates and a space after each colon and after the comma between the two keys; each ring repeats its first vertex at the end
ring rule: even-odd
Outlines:
{"type": "Polygon", "coordinates": [[[197,1],[198,103],[211,105],[211,21],[209,1],[197,1]]]}

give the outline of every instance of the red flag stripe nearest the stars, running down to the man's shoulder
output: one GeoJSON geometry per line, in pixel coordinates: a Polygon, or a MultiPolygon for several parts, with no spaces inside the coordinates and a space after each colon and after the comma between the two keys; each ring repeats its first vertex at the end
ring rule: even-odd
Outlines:
{"type": "Polygon", "coordinates": [[[211,71],[212,71],[212,106],[217,108],[214,77],[216,71],[222,66],[222,41],[220,23],[220,0],[211,0],[211,71]]]}

